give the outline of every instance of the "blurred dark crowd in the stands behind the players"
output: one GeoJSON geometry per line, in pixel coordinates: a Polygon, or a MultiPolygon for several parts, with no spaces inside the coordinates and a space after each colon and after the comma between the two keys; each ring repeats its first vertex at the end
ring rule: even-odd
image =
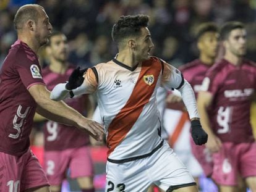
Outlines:
{"type": "MultiPolygon", "coordinates": [[[[45,7],[55,30],[70,41],[69,61],[82,67],[109,61],[116,54],[111,28],[121,15],[150,15],[154,55],[178,67],[197,57],[195,33],[202,22],[221,25],[244,22],[248,31],[247,57],[256,61],[255,0],[1,0],[0,67],[17,38],[12,20],[23,4],[45,7]]],[[[43,54],[43,65],[47,64],[43,54]]]]}

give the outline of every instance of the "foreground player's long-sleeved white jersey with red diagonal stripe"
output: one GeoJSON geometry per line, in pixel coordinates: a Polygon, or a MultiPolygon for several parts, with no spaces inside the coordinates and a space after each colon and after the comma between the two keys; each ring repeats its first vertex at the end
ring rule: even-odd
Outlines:
{"type": "MultiPolygon", "coordinates": [[[[108,161],[126,162],[147,157],[163,144],[156,91],[177,88],[192,117],[198,117],[192,88],[175,67],[150,57],[131,68],[113,59],[88,69],[75,95],[96,91],[107,136],[108,161]]],[[[51,92],[51,99],[67,97],[64,85],[51,92]]]]}

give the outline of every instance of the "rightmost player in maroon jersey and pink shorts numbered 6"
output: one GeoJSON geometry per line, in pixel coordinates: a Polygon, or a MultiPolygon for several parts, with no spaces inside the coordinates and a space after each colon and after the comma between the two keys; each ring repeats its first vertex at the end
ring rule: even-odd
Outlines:
{"type": "Polygon", "coordinates": [[[256,65],[244,59],[246,31],[240,22],[221,28],[224,58],[211,67],[198,93],[198,109],[213,153],[212,178],[221,191],[236,191],[237,175],[256,191],[256,143],[250,105],[256,89],[256,65]],[[207,109],[211,107],[211,115],[207,109]]]}

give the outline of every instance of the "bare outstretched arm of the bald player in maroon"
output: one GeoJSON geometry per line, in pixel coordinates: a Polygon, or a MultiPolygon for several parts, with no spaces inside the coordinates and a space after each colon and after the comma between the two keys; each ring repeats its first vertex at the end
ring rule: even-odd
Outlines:
{"type": "Polygon", "coordinates": [[[75,126],[82,131],[88,131],[96,140],[103,140],[103,125],[83,117],[62,101],[56,102],[49,99],[50,93],[45,85],[33,85],[28,91],[38,104],[37,112],[40,115],[59,123],[75,126]]]}

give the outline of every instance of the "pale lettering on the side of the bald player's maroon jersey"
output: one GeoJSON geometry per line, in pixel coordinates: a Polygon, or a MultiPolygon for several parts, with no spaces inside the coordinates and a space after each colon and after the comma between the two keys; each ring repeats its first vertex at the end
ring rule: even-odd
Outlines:
{"type": "Polygon", "coordinates": [[[17,113],[14,116],[14,120],[12,120],[12,125],[15,130],[17,130],[17,133],[14,134],[9,134],[9,137],[17,139],[20,135],[20,128],[23,126],[24,119],[27,117],[28,111],[30,107],[27,107],[25,112],[22,114],[22,106],[19,105],[17,109],[17,113]]]}

